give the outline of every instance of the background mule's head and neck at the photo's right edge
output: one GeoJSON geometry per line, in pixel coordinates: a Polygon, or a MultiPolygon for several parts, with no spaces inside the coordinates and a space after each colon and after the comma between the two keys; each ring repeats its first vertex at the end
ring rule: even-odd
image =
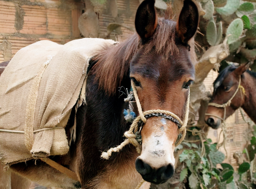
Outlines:
{"type": "MultiPolygon", "coordinates": [[[[247,115],[256,123],[256,73],[247,70],[249,64],[239,67],[234,65],[226,67],[214,81],[214,92],[210,103],[224,104],[234,96],[226,106],[225,119],[242,107],[247,115]],[[239,86],[240,80],[240,86],[239,86]],[[237,90],[237,92],[236,92],[237,90]]],[[[205,122],[213,129],[218,129],[224,117],[224,108],[209,105],[206,111],[205,122]],[[210,114],[210,115],[208,115],[210,114]]]]}

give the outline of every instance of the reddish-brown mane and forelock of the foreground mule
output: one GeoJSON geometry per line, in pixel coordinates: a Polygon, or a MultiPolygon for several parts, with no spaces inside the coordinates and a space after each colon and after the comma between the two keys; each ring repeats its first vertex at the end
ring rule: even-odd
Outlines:
{"type": "MultiPolygon", "coordinates": [[[[165,18],[171,18],[171,13],[171,8],[168,8],[165,18]]],[[[176,44],[176,22],[165,18],[159,18],[153,37],[144,45],[145,53],[154,49],[155,52],[164,55],[179,54],[176,44]]],[[[108,94],[115,94],[117,87],[129,73],[131,59],[139,48],[139,40],[139,35],[135,33],[115,47],[109,47],[99,53],[93,69],[99,88],[103,88],[108,94]]],[[[194,51],[193,46],[191,51],[194,51]]],[[[191,58],[193,59],[193,56],[191,58]]]]}

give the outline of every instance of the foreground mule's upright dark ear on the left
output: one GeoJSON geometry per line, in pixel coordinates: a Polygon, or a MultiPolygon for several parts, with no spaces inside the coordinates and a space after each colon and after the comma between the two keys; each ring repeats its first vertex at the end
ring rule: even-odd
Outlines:
{"type": "Polygon", "coordinates": [[[135,28],[141,39],[147,39],[155,33],[157,28],[155,0],[145,0],[140,4],[135,17],[135,28]]]}

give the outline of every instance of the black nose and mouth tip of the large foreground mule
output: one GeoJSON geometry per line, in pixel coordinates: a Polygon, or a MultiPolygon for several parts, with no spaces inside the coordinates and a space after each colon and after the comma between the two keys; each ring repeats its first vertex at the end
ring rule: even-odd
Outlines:
{"type": "Polygon", "coordinates": [[[174,166],[171,164],[155,169],[139,158],[135,162],[135,167],[145,181],[153,184],[165,183],[173,176],[175,171],[174,166]]]}

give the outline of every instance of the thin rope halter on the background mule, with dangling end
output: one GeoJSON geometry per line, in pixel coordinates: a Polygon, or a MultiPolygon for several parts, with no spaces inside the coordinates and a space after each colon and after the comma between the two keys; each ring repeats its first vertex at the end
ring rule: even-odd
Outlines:
{"type": "MultiPolygon", "coordinates": [[[[234,94],[232,95],[232,97],[226,102],[226,103],[223,103],[223,104],[217,104],[217,103],[208,103],[208,106],[215,106],[215,107],[220,107],[220,108],[224,108],[224,115],[223,115],[223,118],[222,117],[219,117],[217,115],[213,115],[211,113],[206,113],[205,115],[210,115],[210,116],[214,116],[214,117],[217,117],[218,119],[221,120],[221,123],[222,123],[222,131],[223,132],[223,141],[220,143],[220,137],[218,138],[218,143],[217,143],[217,146],[216,148],[219,149],[220,146],[223,146],[224,147],[224,150],[226,151],[226,154],[227,154],[227,150],[226,150],[226,147],[225,147],[225,142],[226,142],[226,122],[225,122],[225,119],[226,119],[226,107],[230,106],[231,104],[231,101],[232,99],[235,97],[235,95],[238,93],[238,91],[241,90],[241,95],[242,93],[245,94],[245,90],[244,90],[244,87],[241,86],[241,76],[239,78],[239,82],[238,82],[238,87],[236,89],[236,91],[234,92],[234,94]]],[[[221,134],[220,132],[220,134],[221,134]]]]}

